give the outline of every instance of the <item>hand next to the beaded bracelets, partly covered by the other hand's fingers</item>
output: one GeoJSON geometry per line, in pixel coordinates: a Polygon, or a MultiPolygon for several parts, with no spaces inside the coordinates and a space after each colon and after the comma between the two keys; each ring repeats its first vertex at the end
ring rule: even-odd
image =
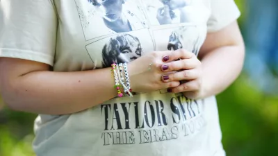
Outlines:
{"type": "Polygon", "coordinates": [[[165,64],[163,60],[167,61],[169,57],[173,58],[172,51],[155,51],[129,62],[127,68],[132,91],[146,93],[178,87],[180,85],[179,80],[163,82],[161,79],[164,74],[177,72],[161,71],[161,66],[165,64]]]}

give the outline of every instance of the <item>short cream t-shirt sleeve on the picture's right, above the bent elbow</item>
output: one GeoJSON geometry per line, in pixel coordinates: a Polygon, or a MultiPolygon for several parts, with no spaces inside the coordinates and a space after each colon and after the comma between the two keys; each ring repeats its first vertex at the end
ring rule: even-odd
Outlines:
{"type": "Polygon", "coordinates": [[[210,0],[211,16],[208,19],[208,32],[219,31],[240,17],[234,0],[210,0]]]}

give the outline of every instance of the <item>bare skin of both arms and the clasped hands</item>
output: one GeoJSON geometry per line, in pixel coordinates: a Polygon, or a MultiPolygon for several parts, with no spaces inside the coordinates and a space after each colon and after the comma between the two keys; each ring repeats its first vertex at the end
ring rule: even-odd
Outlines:
{"type": "MultiPolygon", "coordinates": [[[[236,21],[218,32],[208,33],[199,58],[201,61],[183,49],[143,55],[128,64],[133,91],[153,92],[172,88],[172,92],[184,92],[190,98],[206,98],[222,92],[243,67],[244,44],[236,21]],[[165,58],[169,60],[165,61],[165,58]],[[181,60],[172,62],[179,58],[181,60]],[[154,62],[151,71],[147,70],[149,62],[154,62]],[[166,71],[163,70],[165,64],[169,67],[166,71]],[[163,80],[165,75],[170,79],[163,80]],[[180,85],[179,80],[188,79],[189,83],[180,85]]],[[[48,64],[40,62],[0,58],[3,100],[18,111],[71,114],[117,95],[110,68],[75,72],[49,69],[48,64]]]]}

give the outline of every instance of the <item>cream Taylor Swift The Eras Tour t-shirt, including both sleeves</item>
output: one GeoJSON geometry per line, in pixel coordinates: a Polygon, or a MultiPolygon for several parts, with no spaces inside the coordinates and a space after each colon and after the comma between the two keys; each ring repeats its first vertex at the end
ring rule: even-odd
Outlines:
{"type": "MultiPolygon", "coordinates": [[[[1,0],[0,7],[0,57],[54,71],[110,67],[167,49],[197,55],[207,32],[240,15],[233,0],[1,0]]],[[[225,155],[214,96],[113,98],[75,114],[40,114],[35,135],[38,156],[225,155]]]]}

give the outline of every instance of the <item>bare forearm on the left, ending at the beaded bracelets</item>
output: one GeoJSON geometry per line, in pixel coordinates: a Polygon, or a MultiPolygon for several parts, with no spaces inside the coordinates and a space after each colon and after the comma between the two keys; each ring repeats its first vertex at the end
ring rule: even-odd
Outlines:
{"type": "Polygon", "coordinates": [[[111,69],[33,71],[10,80],[3,93],[15,110],[38,114],[70,114],[117,96],[111,69]]]}

